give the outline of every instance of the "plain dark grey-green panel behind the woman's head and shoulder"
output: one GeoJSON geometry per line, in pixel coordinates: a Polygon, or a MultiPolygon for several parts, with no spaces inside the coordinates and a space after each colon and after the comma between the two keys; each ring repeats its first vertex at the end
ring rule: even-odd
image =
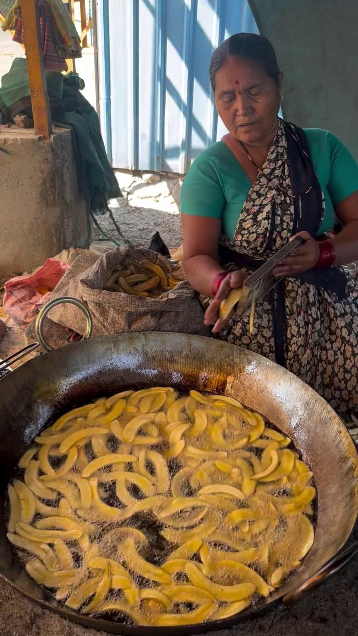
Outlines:
{"type": "Polygon", "coordinates": [[[285,73],[285,118],[331,130],[358,160],[358,0],[249,4],[285,73]]]}

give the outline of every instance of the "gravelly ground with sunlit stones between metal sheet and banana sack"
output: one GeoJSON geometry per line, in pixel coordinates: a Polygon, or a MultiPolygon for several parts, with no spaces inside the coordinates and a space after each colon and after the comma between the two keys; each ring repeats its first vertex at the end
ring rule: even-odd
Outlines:
{"type": "MultiPolygon", "coordinates": [[[[174,174],[132,176],[128,172],[117,172],[117,178],[123,197],[112,199],[110,209],[125,239],[148,247],[152,235],[158,231],[167,247],[182,244],[179,216],[182,178],[174,174]]],[[[111,239],[124,244],[109,214],[97,216],[97,221],[111,239]]],[[[101,239],[95,228],[94,240],[101,239]]]]}

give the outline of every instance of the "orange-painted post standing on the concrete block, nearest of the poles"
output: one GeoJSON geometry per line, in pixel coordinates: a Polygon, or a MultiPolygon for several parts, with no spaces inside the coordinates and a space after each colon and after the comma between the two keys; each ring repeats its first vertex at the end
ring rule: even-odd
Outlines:
{"type": "Polygon", "coordinates": [[[43,43],[36,0],[22,0],[21,15],[24,24],[27,70],[29,72],[35,132],[37,135],[49,139],[52,134],[50,101],[48,99],[45,67],[43,65],[43,43]]]}

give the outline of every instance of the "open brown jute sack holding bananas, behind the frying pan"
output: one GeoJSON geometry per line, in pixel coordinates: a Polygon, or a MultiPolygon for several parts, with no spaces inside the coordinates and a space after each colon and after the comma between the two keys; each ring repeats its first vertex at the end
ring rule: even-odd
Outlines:
{"type": "MultiPolygon", "coordinates": [[[[83,271],[83,257],[78,256],[51,294],[51,298],[74,296],[89,308],[93,319],[93,336],[136,331],[175,331],[208,335],[203,310],[189,282],[183,280],[183,270],[156,252],[133,247],[116,247],[97,259],[83,271]],[[178,285],[158,298],[134,296],[107,291],[106,283],[113,268],[130,256],[137,261],[161,265],[178,285]],[[78,262],[77,262],[78,261],[78,262]],[[82,270],[82,271],[80,271],[82,270]]],[[[52,321],[85,333],[85,321],[80,311],[69,304],[57,305],[49,313],[52,321]]]]}

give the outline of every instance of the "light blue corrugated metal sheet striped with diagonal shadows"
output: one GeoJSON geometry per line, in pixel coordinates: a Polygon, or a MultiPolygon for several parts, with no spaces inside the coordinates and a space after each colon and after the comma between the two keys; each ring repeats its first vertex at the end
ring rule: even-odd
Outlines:
{"type": "Polygon", "coordinates": [[[224,133],[208,67],[258,32],[247,0],[99,0],[101,122],[113,166],[184,173],[224,133]]]}

